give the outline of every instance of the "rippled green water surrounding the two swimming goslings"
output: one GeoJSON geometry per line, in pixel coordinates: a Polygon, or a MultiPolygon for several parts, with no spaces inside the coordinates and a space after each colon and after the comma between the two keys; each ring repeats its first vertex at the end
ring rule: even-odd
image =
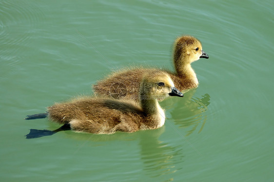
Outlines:
{"type": "Polygon", "coordinates": [[[258,182],[274,178],[272,0],[0,1],[0,180],[258,182]],[[24,120],[92,94],[122,66],[172,69],[176,36],[196,36],[209,59],[199,87],[161,102],[157,130],[25,139],[24,120]]]}

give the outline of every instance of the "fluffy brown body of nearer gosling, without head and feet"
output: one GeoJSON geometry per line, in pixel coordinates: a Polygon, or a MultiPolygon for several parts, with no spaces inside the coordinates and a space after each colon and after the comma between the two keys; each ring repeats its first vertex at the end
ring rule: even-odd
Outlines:
{"type": "MultiPolygon", "coordinates": [[[[162,113],[161,108],[158,110],[162,113]]],[[[48,108],[50,120],[60,124],[69,123],[71,129],[78,132],[96,134],[156,129],[163,126],[164,117],[146,115],[135,102],[103,98],[80,98],[48,108]]]]}

